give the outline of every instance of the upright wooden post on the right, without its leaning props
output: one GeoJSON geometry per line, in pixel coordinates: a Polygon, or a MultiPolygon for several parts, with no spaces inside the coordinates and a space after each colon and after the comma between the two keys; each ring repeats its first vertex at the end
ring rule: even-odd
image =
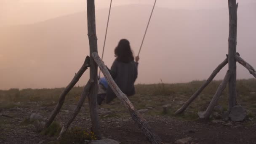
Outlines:
{"type": "Polygon", "coordinates": [[[237,3],[236,0],[228,0],[229,5],[229,112],[236,105],[236,77],[237,66],[235,61],[237,48],[237,3]]]}

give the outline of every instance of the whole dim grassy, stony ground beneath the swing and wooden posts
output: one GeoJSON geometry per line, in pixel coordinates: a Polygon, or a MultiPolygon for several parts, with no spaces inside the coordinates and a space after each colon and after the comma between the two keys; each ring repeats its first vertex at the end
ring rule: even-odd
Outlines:
{"type": "MultiPolygon", "coordinates": [[[[165,143],[173,144],[177,139],[191,137],[192,142],[198,144],[256,144],[255,80],[240,80],[237,83],[237,102],[247,109],[248,120],[237,123],[198,120],[196,113],[207,108],[220,81],[213,81],[184,114],[173,114],[202,83],[194,81],[186,84],[136,85],[137,94],[129,99],[136,109],[148,109],[142,115],[165,143]],[[162,112],[164,104],[171,104],[167,115],[162,112]]],[[[76,87],[69,93],[56,117],[57,123],[63,125],[72,114],[82,89],[76,87]]],[[[57,144],[56,136],[37,133],[27,119],[32,113],[39,113],[44,117],[50,115],[62,90],[63,88],[0,91],[0,113],[7,115],[0,116],[0,143],[57,144]]],[[[218,104],[227,109],[227,89],[218,104]]],[[[99,113],[104,137],[120,141],[121,144],[149,144],[118,99],[111,104],[102,104],[99,113]]],[[[90,131],[87,101],[70,126],[73,127],[90,131]]]]}

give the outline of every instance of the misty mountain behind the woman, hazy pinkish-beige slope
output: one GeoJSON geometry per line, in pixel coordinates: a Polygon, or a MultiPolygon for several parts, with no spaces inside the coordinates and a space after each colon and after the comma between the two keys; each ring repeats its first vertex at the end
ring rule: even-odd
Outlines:
{"type": "MultiPolygon", "coordinates": [[[[139,51],[151,5],[112,8],[104,62],[110,67],[121,38],[139,51]]],[[[256,4],[239,5],[237,52],[256,67],[256,4]]],[[[96,11],[101,55],[108,9],[96,11]]],[[[228,8],[173,10],[156,7],[140,54],[137,83],[187,82],[207,78],[228,53],[228,8]]],[[[89,54],[86,12],[35,24],[0,28],[0,89],[66,86],[89,54]]],[[[227,68],[226,68],[227,69],[227,68]]],[[[250,78],[237,66],[238,78],[250,78]]],[[[85,72],[79,85],[88,78],[85,72]]],[[[222,79],[225,70],[216,77],[222,79]]]]}

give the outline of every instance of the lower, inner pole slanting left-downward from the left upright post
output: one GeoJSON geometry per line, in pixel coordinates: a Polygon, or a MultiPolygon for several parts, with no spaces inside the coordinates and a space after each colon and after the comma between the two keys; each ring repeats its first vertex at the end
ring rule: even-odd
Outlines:
{"type": "Polygon", "coordinates": [[[91,88],[91,84],[93,83],[93,80],[88,80],[88,83],[85,85],[83,92],[80,96],[80,99],[77,103],[77,107],[74,109],[71,117],[69,117],[69,119],[67,120],[67,122],[63,125],[61,132],[59,133],[59,137],[58,139],[61,138],[61,136],[63,135],[63,133],[65,133],[67,131],[67,129],[69,128],[69,125],[72,123],[72,121],[75,119],[75,117],[77,116],[77,114],[80,112],[81,107],[83,106],[83,103],[85,101],[86,96],[89,94],[90,88],[91,88]]]}

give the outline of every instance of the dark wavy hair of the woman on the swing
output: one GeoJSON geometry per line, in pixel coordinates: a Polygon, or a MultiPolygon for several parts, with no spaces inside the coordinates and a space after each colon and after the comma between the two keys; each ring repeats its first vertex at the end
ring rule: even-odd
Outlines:
{"type": "Polygon", "coordinates": [[[119,41],[115,48],[115,56],[117,56],[117,61],[124,63],[134,61],[133,52],[131,51],[130,42],[128,40],[122,39],[119,41]]]}

